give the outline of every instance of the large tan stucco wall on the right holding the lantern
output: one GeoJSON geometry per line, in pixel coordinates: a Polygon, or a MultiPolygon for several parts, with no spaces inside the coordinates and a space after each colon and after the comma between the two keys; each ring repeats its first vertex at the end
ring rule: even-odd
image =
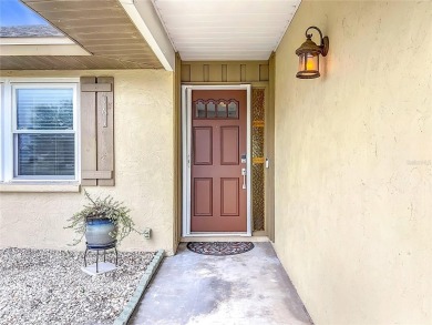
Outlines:
{"type": "Polygon", "coordinates": [[[277,49],[275,246],[318,325],[432,324],[431,73],[430,1],[302,1],[277,49]]]}

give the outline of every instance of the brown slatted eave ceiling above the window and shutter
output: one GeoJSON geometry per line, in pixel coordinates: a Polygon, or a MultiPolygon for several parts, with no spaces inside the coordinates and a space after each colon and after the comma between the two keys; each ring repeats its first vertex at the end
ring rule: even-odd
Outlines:
{"type": "Polygon", "coordinates": [[[91,55],[1,55],[1,69],[162,69],[117,0],[21,0],[91,55]]]}

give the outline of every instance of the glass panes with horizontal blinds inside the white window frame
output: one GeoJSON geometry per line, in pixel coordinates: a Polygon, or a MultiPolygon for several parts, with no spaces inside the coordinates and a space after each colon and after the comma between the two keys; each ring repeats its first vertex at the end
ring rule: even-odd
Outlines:
{"type": "Polygon", "coordinates": [[[73,89],[17,89],[17,176],[73,176],[73,89]]]}

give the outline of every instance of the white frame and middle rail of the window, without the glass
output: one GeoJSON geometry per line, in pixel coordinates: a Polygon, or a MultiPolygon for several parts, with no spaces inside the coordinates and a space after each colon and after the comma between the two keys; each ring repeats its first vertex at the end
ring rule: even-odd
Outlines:
{"type": "MultiPolygon", "coordinates": [[[[7,183],[79,183],[81,179],[81,145],[80,145],[80,79],[79,78],[61,78],[61,79],[37,79],[37,78],[10,78],[0,79],[2,98],[0,101],[0,125],[3,132],[0,132],[0,182],[7,183]],[[58,130],[59,132],[47,133],[74,133],[74,150],[75,150],[75,174],[73,177],[62,176],[16,176],[16,144],[14,134],[19,134],[17,130],[17,104],[16,89],[41,89],[41,88],[72,88],[73,89],[73,130],[58,130]],[[64,132],[68,131],[68,132],[64,132]]],[[[21,130],[22,131],[22,130],[21,130]]],[[[25,133],[25,132],[23,132],[25,133]]],[[[33,133],[33,132],[30,132],[33,133]]],[[[39,132],[38,132],[39,133],[39,132]]],[[[40,132],[44,133],[44,132],[40,132]]]]}

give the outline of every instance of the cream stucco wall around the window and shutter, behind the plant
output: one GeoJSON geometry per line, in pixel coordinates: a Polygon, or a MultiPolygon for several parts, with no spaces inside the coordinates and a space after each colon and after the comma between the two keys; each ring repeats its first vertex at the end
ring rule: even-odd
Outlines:
{"type": "MultiPolygon", "coordinates": [[[[112,194],[132,210],[152,238],[128,236],[121,250],[173,252],[173,73],[162,70],[7,72],[1,77],[114,77],[115,186],[86,187],[112,194]]],[[[81,193],[0,193],[0,247],[71,248],[66,219],[84,203],[81,193]]],[[[75,247],[83,248],[83,244],[75,247]]]]}

